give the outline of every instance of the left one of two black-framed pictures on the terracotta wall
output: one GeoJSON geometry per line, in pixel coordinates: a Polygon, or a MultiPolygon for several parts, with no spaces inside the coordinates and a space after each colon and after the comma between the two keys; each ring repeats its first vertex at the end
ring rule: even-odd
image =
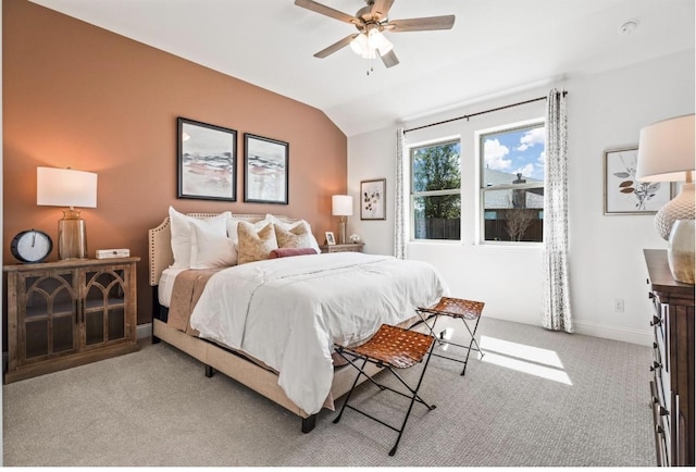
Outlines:
{"type": "Polygon", "coordinates": [[[237,132],[176,119],[178,198],[237,200],[237,132]]]}

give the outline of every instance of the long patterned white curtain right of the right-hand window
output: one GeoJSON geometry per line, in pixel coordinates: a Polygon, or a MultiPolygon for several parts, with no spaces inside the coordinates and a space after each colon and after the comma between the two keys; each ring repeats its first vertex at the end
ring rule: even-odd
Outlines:
{"type": "Polygon", "coordinates": [[[568,129],[566,91],[547,99],[544,190],[544,311],[542,325],[573,332],[568,274],[568,129]]]}

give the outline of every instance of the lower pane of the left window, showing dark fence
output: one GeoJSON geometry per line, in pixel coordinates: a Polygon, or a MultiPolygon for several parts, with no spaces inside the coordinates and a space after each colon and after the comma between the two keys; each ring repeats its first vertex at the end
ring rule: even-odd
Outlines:
{"type": "Polygon", "coordinates": [[[461,238],[461,196],[413,198],[414,239],[461,238]]]}

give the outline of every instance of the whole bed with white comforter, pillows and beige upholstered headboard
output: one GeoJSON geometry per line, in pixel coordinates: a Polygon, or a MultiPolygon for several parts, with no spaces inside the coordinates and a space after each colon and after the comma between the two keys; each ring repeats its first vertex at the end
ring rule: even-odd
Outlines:
{"type": "Polygon", "coordinates": [[[189,213],[192,236],[181,240],[175,233],[184,215],[172,210],[148,232],[153,343],[165,341],[198,359],[207,376],[221,372],[286,408],[301,418],[304,433],[322,408],[334,409],[334,399],[356,376],[332,356],[334,343],[364,341],[382,323],[410,326],[420,320],[417,306],[435,305],[447,295],[430,264],[359,252],[321,254],[313,236],[302,240],[315,252],[277,249],[271,258],[296,253],[244,263],[244,240],[233,244],[228,237],[227,244],[239,249],[236,263],[222,258],[220,266],[200,264],[201,252],[211,260],[217,258],[211,256],[215,247],[228,248],[221,238],[203,236],[201,222],[225,220],[228,236],[243,225],[263,228],[261,234],[272,223],[276,247],[283,237],[277,232],[304,224],[311,235],[311,227],[277,215],[189,213]],[[192,247],[190,259],[181,263],[177,252],[186,245],[192,247]]]}

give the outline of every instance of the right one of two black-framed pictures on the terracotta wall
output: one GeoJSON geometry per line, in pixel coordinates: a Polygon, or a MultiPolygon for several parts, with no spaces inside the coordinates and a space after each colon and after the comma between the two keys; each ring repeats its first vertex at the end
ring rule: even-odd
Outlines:
{"type": "Polygon", "coordinates": [[[287,142],[244,134],[244,201],[287,204],[287,142]]]}

